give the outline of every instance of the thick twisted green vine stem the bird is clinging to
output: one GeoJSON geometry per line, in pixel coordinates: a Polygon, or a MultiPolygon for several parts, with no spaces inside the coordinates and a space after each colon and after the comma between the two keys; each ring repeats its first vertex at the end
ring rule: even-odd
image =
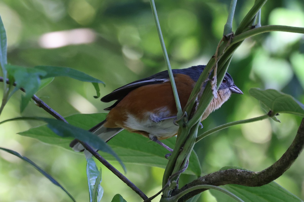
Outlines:
{"type": "MultiPolygon", "coordinates": [[[[244,19],[242,21],[242,28],[238,28],[239,32],[242,33],[244,31],[247,31],[248,25],[252,23],[254,16],[257,14],[258,10],[264,5],[266,0],[258,0],[256,4],[250,9],[248,14],[246,15],[246,20],[244,19]],[[245,22],[246,21],[246,22],[245,22]]],[[[252,28],[252,26],[249,27],[249,29],[252,28]]],[[[184,127],[179,128],[178,132],[178,137],[176,140],[176,144],[174,147],[174,151],[169,159],[169,162],[167,164],[167,167],[164,172],[164,177],[163,177],[163,186],[164,184],[167,183],[170,175],[173,173],[174,170],[176,169],[181,169],[181,162],[177,161],[177,159],[181,158],[179,155],[182,155],[183,157],[186,157],[184,154],[179,153],[180,149],[185,147],[185,141],[187,139],[192,139],[192,137],[195,137],[195,132],[193,131],[194,129],[197,130],[198,123],[202,117],[203,112],[206,110],[207,106],[211,102],[213,96],[212,92],[210,89],[210,83],[208,82],[205,90],[202,94],[201,101],[199,102],[199,106],[195,114],[192,116],[192,109],[193,106],[196,102],[197,95],[201,91],[202,84],[206,81],[208,81],[208,76],[210,72],[212,71],[214,65],[217,63],[218,64],[218,71],[217,71],[217,77],[221,78],[225,75],[226,73],[226,68],[227,65],[229,64],[229,61],[231,59],[231,56],[235,49],[241,44],[241,42],[238,42],[234,45],[230,45],[230,40],[229,38],[223,41],[223,43],[220,44],[219,47],[219,53],[218,55],[221,55],[218,61],[215,61],[215,58],[212,57],[208,64],[206,65],[204,71],[200,75],[195,87],[193,88],[193,91],[191,92],[190,98],[188,100],[188,103],[185,107],[185,114],[188,114],[188,117],[185,119],[190,119],[188,122],[185,123],[184,127]],[[192,116],[192,117],[191,117],[192,116]],[[191,131],[191,132],[190,132],[191,131]],[[178,164],[176,164],[178,162],[178,164]]],[[[218,82],[221,82],[221,80],[218,80],[218,82]]],[[[187,120],[186,120],[187,121],[187,120]]],[[[184,121],[185,122],[185,121],[184,121]]],[[[196,137],[195,137],[196,138],[196,137]]],[[[188,146],[192,146],[191,144],[188,144],[188,146]]],[[[184,159],[183,159],[184,160],[184,159]]],[[[168,190],[167,190],[168,191],[168,190]]],[[[165,197],[165,196],[164,196],[165,197]]]]}

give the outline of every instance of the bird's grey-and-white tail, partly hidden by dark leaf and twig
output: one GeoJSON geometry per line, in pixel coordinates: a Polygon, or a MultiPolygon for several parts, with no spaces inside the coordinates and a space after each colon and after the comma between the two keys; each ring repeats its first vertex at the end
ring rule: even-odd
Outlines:
{"type": "MultiPolygon", "coordinates": [[[[112,137],[114,137],[117,133],[123,130],[123,128],[107,128],[104,127],[103,124],[105,123],[106,120],[100,122],[99,124],[95,125],[92,127],[89,131],[92,132],[93,134],[97,135],[100,137],[103,141],[107,142],[109,141],[112,137]]],[[[74,151],[84,151],[84,147],[75,139],[71,141],[70,147],[74,151]]]]}

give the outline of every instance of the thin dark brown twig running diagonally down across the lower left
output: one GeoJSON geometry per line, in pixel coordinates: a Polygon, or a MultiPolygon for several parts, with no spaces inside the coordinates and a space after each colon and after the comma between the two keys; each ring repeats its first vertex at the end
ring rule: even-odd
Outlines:
{"type": "MultiPolygon", "coordinates": [[[[0,82],[3,82],[3,78],[0,77],[0,82]]],[[[6,83],[9,84],[9,79],[6,79],[6,83]]],[[[13,83],[13,86],[16,86],[16,83],[13,83]]],[[[20,88],[21,91],[25,92],[23,88],[20,88]]],[[[58,120],[64,121],[67,123],[67,121],[56,111],[54,111],[52,108],[50,108],[45,102],[43,102],[40,98],[38,98],[36,95],[33,95],[32,99],[36,102],[36,105],[43,108],[47,113],[51,114],[53,117],[55,117],[58,120]]],[[[100,161],[105,167],[107,167],[110,171],[112,171],[119,179],[121,179],[124,183],[126,183],[132,190],[134,190],[143,200],[146,200],[148,197],[133,184],[128,178],[126,178],[122,173],[120,173],[114,166],[112,166],[108,161],[106,161],[100,154],[98,154],[95,149],[93,149],[90,145],[88,145],[85,142],[79,141],[80,144],[85,147],[86,150],[88,150],[95,158],[100,161]]]]}

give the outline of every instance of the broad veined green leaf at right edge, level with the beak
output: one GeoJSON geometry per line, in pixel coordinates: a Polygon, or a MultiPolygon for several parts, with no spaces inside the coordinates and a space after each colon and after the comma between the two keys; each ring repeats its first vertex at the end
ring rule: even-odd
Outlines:
{"type": "Polygon", "coordinates": [[[274,114],[289,113],[304,117],[304,105],[291,95],[274,89],[261,90],[259,88],[250,88],[249,93],[271,109],[274,114]]]}

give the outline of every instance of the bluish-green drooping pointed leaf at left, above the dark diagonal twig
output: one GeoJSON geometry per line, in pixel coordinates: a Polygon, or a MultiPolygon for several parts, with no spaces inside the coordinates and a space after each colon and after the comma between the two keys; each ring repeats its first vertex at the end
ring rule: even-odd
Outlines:
{"type": "Polygon", "coordinates": [[[46,71],[26,68],[16,65],[5,65],[10,77],[14,77],[16,88],[11,92],[13,94],[19,88],[24,88],[25,95],[21,96],[20,111],[22,112],[34,93],[36,93],[40,86],[40,77],[47,75],[46,71]]]}

